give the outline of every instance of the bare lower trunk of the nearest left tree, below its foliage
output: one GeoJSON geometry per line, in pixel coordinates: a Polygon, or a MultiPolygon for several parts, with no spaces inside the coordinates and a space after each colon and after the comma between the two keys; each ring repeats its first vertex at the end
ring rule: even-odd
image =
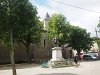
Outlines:
{"type": "Polygon", "coordinates": [[[10,32],[10,44],[11,44],[10,59],[11,59],[12,72],[13,72],[13,75],[17,75],[15,62],[14,62],[14,46],[13,46],[13,33],[12,33],[12,31],[10,32]]]}

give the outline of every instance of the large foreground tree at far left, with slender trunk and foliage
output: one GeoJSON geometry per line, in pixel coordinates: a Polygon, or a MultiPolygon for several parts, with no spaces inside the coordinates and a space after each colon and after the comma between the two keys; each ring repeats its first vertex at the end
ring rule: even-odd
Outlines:
{"type": "Polygon", "coordinates": [[[10,48],[13,75],[16,75],[15,46],[21,41],[29,46],[30,38],[34,43],[39,41],[42,27],[37,14],[29,0],[0,0],[0,39],[10,48]]]}

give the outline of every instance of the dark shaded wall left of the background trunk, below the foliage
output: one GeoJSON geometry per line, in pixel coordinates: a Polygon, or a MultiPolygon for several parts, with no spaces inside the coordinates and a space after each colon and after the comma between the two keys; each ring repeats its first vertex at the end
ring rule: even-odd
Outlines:
{"type": "MultiPolygon", "coordinates": [[[[5,48],[0,43],[0,64],[10,63],[10,49],[5,48]]],[[[15,49],[15,61],[16,62],[25,62],[26,61],[26,52],[24,46],[20,46],[15,49]]]]}

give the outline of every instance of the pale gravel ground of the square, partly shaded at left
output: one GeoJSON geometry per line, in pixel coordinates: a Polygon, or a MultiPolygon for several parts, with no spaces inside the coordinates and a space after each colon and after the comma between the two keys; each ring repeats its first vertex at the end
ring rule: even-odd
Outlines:
{"type": "MultiPolygon", "coordinates": [[[[80,62],[79,67],[42,68],[35,64],[17,64],[17,75],[100,75],[100,61],[80,62]]],[[[0,65],[0,75],[12,75],[9,65],[0,65]]]]}

